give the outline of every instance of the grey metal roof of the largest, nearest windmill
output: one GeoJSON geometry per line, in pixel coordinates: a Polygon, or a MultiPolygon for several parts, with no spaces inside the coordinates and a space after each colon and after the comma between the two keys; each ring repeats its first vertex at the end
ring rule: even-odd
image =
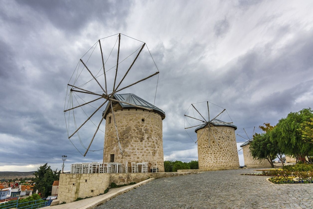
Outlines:
{"type": "MultiPolygon", "coordinates": [[[[163,110],[161,110],[160,108],[154,106],[153,104],[143,100],[142,98],[136,96],[135,94],[132,94],[132,93],[128,93],[128,94],[114,94],[113,97],[116,99],[116,100],[119,100],[119,101],[122,101],[122,102],[127,102],[127,103],[130,103],[130,104],[134,104],[134,105],[137,105],[137,106],[140,106],[140,107],[146,107],[146,108],[150,108],[150,109],[153,109],[155,110],[154,112],[157,112],[161,115],[162,117],[162,120],[165,118],[165,112],[163,112],[163,110]]],[[[129,104],[125,104],[125,103],[122,103],[122,102],[119,102],[119,104],[122,106],[122,108],[128,108],[128,107],[133,107],[133,105],[129,105],[129,104]]],[[[103,114],[105,114],[108,109],[110,108],[110,105],[108,104],[105,108],[105,111],[103,112],[103,114]]]]}

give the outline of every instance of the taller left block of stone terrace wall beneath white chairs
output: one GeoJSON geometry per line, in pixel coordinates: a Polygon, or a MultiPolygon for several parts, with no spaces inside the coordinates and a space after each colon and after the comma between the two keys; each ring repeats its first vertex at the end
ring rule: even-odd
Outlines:
{"type": "Polygon", "coordinates": [[[73,202],[103,194],[110,185],[110,174],[61,174],[59,180],[58,200],[73,202]]]}

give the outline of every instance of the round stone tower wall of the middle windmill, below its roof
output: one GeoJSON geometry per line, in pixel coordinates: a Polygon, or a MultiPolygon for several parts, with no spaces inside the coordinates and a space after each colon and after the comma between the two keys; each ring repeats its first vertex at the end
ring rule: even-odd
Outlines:
{"type": "Polygon", "coordinates": [[[239,157],[235,129],[228,126],[197,131],[199,169],[237,169],[239,157]]]}

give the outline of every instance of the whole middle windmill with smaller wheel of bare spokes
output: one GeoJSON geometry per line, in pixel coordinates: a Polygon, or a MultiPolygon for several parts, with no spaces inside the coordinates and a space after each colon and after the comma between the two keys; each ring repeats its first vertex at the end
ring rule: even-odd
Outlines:
{"type": "Polygon", "coordinates": [[[197,133],[199,169],[237,169],[239,168],[235,137],[237,127],[233,125],[233,122],[218,119],[226,111],[224,108],[222,112],[210,119],[209,103],[211,102],[192,104],[189,113],[193,116],[185,114],[186,121],[191,125],[185,129],[197,127],[195,132],[197,133]],[[198,108],[201,104],[205,104],[207,109],[198,108]]]}

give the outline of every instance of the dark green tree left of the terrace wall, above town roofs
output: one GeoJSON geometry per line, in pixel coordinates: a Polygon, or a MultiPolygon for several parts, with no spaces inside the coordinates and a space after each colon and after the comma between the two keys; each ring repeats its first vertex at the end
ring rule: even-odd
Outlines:
{"type": "Polygon", "coordinates": [[[34,172],[35,179],[34,182],[36,185],[33,187],[33,192],[38,190],[40,196],[48,196],[49,192],[52,189],[52,184],[55,180],[59,180],[61,170],[57,172],[57,170],[51,170],[48,163],[41,165],[37,171],[34,172]]]}

